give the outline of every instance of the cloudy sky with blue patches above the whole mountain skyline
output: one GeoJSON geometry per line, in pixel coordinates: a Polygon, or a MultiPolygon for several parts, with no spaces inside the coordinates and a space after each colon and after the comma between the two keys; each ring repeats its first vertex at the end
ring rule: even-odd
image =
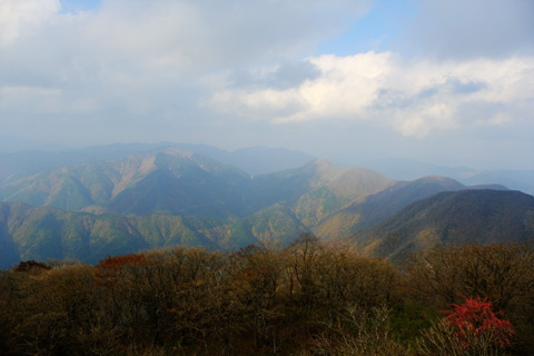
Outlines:
{"type": "Polygon", "coordinates": [[[0,0],[0,138],[534,169],[534,1],[0,0]]]}

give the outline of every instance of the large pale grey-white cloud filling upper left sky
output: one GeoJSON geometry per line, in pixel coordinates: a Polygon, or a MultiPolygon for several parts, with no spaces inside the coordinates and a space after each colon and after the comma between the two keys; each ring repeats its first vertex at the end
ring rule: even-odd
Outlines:
{"type": "MultiPolygon", "coordinates": [[[[293,61],[369,2],[107,0],[72,14],[60,13],[57,0],[0,1],[0,39],[9,44],[0,47],[0,88],[34,87],[34,98],[24,96],[32,107],[44,100],[41,89],[59,89],[47,107],[57,102],[65,115],[73,112],[63,103],[76,101],[142,116],[194,107],[206,73],[293,61]]],[[[21,109],[11,97],[1,102],[3,112],[21,109]]]]}

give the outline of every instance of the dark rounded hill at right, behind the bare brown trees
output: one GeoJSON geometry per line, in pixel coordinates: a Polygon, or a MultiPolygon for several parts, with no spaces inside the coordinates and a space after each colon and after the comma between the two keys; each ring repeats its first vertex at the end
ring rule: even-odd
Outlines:
{"type": "Polygon", "coordinates": [[[534,197],[521,191],[445,191],[353,237],[367,253],[400,260],[436,244],[534,241],[534,197]]]}

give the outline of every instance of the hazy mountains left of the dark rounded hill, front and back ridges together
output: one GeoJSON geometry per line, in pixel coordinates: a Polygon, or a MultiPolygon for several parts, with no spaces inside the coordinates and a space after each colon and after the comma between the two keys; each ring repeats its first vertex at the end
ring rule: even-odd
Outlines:
{"type": "Polygon", "coordinates": [[[172,244],[234,249],[288,243],[392,184],[375,171],[325,160],[250,177],[179,148],[67,166],[0,187],[2,264],[95,261],[172,244]]]}

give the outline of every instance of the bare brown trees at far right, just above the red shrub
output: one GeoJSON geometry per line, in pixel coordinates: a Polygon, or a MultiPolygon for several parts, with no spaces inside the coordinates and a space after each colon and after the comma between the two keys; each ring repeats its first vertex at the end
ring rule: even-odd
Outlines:
{"type": "Polygon", "coordinates": [[[534,349],[534,248],[516,243],[438,246],[406,266],[409,303],[443,309],[464,296],[487,298],[514,324],[517,354],[534,349]]]}

